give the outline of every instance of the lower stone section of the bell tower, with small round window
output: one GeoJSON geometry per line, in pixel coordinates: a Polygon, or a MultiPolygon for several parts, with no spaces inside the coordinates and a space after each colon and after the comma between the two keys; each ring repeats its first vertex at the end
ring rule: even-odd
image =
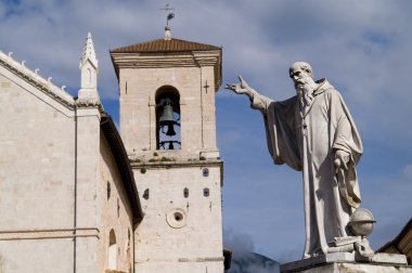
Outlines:
{"type": "Polygon", "coordinates": [[[134,178],[145,213],[136,272],[223,272],[220,164],[134,166],[134,178]]]}

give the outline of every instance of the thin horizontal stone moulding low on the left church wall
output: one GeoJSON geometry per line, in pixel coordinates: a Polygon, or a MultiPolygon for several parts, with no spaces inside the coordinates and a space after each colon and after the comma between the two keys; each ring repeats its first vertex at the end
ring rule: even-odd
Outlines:
{"type": "Polygon", "coordinates": [[[99,237],[98,227],[0,231],[0,240],[99,237]]]}

